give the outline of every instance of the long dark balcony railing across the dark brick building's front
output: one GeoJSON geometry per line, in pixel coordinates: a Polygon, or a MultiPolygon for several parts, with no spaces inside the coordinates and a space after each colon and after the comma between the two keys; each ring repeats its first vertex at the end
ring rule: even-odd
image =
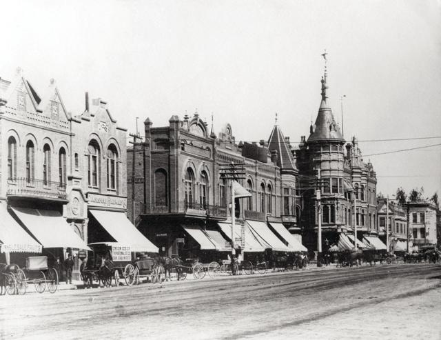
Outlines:
{"type": "Polygon", "coordinates": [[[191,214],[208,217],[227,217],[227,208],[198,202],[180,201],[176,207],[165,205],[154,206],[137,202],[137,210],[141,214],[191,214]]]}

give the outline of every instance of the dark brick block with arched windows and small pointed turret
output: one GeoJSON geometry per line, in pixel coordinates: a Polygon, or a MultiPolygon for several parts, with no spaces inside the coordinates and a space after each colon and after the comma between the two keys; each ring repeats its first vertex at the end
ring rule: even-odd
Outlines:
{"type": "Polygon", "coordinates": [[[273,228],[282,226],[279,230],[283,233],[287,228],[297,231],[300,201],[296,197],[295,159],[277,125],[269,141],[259,144],[236,143],[229,124],[217,137],[197,113],[184,119],[174,115],[169,126],[158,128],[152,127],[147,118],[144,126],[145,142],[127,150],[127,173],[132,173],[132,178],[127,177],[128,209],[132,216],[134,207],[136,226],[159,246],[161,254],[186,257],[197,250],[203,256],[200,250],[214,248],[197,239],[196,232],[201,235],[201,230],[205,236],[212,235],[205,243],[216,243],[217,239],[218,248],[229,247],[231,230],[224,232],[227,229],[220,226],[225,227],[232,219],[231,181],[224,176],[225,167],[232,163],[243,172],[238,179],[240,186],[251,194],[235,200],[242,247],[252,248],[253,242],[260,249],[287,250],[289,242],[283,243],[283,237],[273,228]],[[263,239],[256,235],[257,229],[266,234],[263,239]]]}

